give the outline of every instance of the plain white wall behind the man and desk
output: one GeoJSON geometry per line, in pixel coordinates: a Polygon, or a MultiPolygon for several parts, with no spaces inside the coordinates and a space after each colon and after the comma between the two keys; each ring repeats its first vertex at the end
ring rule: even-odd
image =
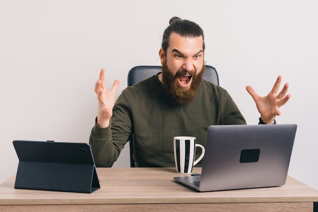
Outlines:
{"type": "MultiPolygon", "coordinates": [[[[258,123],[259,114],[246,85],[266,95],[278,75],[290,83],[292,98],[277,117],[298,124],[289,174],[318,189],[314,0],[0,0],[0,183],[17,169],[14,139],[87,143],[100,69],[109,88],[120,80],[119,95],[131,67],[160,65],[172,16],[204,29],[206,63],[248,124],[258,123]]],[[[129,166],[127,148],[115,166],[129,166]]]]}

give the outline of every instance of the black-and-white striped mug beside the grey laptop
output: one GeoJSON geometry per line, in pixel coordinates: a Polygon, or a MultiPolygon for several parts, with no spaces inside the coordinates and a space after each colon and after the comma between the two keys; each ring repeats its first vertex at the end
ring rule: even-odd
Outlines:
{"type": "Polygon", "coordinates": [[[196,137],[192,136],[177,136],[173,138],[174,161],[178,173],[191,173],[193,166],[203,158],[205,149],[196,142],[196,137]],[[202,149],[202,153],[195,161],[197,147],[202,149]]]}

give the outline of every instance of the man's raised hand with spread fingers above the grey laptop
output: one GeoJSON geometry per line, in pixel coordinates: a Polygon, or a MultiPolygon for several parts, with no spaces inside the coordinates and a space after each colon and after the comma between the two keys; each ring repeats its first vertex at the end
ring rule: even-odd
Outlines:
{"type": "Polygon", "coordinates": [[[277,94],[280,83],[281,76],[278,76],[272,90],[267,96],[263,97],[258,95],[252,87],[246,87],[247,92],[252,96],[256,103],[256,107],[261,114],[261,119],[266,124],[274,123],[275,117],[280,116],[281,114],[279,108],[291,98],[291,94],[287,94],[289,87],[288,83],[285,83],[282,90],[277,94]]]}

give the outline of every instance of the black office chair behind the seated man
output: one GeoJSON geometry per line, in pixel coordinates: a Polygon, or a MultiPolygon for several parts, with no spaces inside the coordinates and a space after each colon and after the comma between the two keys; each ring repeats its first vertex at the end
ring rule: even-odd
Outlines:
{"type": "MultiPolygon", "coordinates": [[[[153,65],[135,66],[132,69],[130,69],[128,73],[128,86],[135,85],[139,81],[152,77],[153,75],[156,75],[159,72],[162,72],[161,66],[153,66],[153,65]]],[[[219,85],[217,72],[215,68],[210,65],[205,66],[203,79],[215,85],[219,85]]],[[[129,146],[130,146],[130,165],[131,167],[136,167],[135,161],[133,159],[134,146],[135,146],[133,134],[130,136],[129,146]]]]}

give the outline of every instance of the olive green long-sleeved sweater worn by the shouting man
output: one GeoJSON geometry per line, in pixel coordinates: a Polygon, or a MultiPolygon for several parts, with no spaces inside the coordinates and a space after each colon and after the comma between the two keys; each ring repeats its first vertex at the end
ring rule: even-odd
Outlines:
{"type": "Polygon", "coordinates": [[[221,124],[246,124],[225,89],[203,80],[192,102],[176,105],[155,75],[122,91],[110,126],[100,128],[96,123],[89,143],[96,165],[111,167],[134,134],[139,167],[174,167],[174,136],[195,136],[205,147],[208,126],[221,124]]]}

